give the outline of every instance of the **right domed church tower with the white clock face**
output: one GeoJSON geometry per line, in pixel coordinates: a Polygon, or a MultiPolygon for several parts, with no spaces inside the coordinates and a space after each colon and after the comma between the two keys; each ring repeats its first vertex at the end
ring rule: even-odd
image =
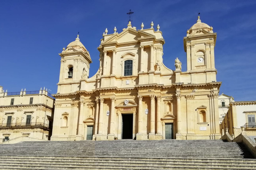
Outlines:
{"type": "Polygon", "coordinates": [[[187,72],[215,71],[216,36],[217,33],[213,33],[213,28],[201,22],[198,16],[197,22],[187,30],[187,37],[183,39],[187,53],[187,72]]]}

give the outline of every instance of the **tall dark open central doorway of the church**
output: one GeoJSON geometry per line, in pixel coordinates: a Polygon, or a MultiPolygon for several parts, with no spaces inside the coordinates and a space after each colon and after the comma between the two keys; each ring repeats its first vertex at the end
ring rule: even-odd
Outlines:
{"type": "Polygon", "coordinates": [[[132,139],[133,114],[122,114],[122,139],[132,139]]]}

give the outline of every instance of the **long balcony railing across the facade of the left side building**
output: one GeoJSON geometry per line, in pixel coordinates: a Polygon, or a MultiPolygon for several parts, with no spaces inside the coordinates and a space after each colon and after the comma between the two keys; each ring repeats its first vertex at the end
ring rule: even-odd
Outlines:
{"type": "Polygon", "coordinates": [[[38,128],[46,128],[49,129],[49,125],[45,124],[43,122],[31,122],[31,123],[3,123],[0,124],[0,129],[13,129],[13,128],[33,128],[33,127],[38,127],[38,128]]]}

